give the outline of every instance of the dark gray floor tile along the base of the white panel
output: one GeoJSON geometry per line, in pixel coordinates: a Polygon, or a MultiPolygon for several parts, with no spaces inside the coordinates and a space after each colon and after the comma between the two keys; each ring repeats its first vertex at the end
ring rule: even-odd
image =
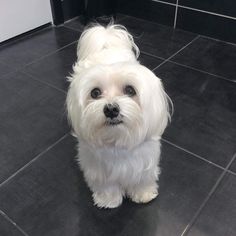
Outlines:
{"type": "Polygon", "coordinates": [[[79,32],[65,27],[49,27],[0,47],[0,62],[18,69],[78,40],[79,32]]]}

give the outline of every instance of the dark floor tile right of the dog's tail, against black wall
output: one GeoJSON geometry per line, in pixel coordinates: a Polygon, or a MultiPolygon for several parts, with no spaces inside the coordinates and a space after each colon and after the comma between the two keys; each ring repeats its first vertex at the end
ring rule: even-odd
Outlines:
{"type": "Polygon", "coordinates": [[[168,26],[128,17],[119,22],[135,37],[140,50],[162,58],[168,58],[189,43],[195,34],[174,30],[168,26]]]}

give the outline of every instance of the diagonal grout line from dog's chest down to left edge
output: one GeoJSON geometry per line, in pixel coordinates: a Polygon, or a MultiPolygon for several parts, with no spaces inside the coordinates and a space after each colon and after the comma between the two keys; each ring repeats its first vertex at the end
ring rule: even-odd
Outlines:
{"type": "Polygon", "coordinates": [[[9,176],[7,179],[5,179],[2,183],[0,183],[0,188],[3,187],[4,184],[9,182],[12,178],[14,178],[18,173],[20,173],[22,170],[30,166],[33,162],[35,162],[38,158],[40,158],[42,155],[47,153],[49,150],[51,150],[53,147],[55,147],[58,143],[60,143],[63,139],[65,139],[69,135],[69,132],[64,134],[61,138],[59,138],[56,142],[51,144],[49,147],[47,147],[44,151],[40,152],[38,155],[36,155],[31,161],[27,162],[24,166],[22,166],[20,169],[18,169],[15,173],[13,173],[11,176],[9,176]]]}

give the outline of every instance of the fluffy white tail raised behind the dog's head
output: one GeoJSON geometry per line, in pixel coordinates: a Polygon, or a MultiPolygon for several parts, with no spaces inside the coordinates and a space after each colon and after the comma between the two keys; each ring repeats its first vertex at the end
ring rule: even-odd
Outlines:
{"type": "Polygon", "coordinates": [[[79,39],[77,56],[79,60],[84,60],[94,53],[111,48],[133,50],[136,58],[139,56],[132,35],[124,26],[114,24],[107,27],[95,25],[85,30],[79,39]]]}

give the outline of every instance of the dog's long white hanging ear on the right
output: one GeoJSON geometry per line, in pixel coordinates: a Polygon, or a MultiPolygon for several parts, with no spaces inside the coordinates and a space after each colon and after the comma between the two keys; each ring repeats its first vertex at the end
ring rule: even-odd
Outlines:
{"type": "Polygon", "coordinates": [[[161,80],[149,69],[140,66],[142,88],[140,100],[149,137],[160,137],[170,121],[172,102],[161,80]]]}

